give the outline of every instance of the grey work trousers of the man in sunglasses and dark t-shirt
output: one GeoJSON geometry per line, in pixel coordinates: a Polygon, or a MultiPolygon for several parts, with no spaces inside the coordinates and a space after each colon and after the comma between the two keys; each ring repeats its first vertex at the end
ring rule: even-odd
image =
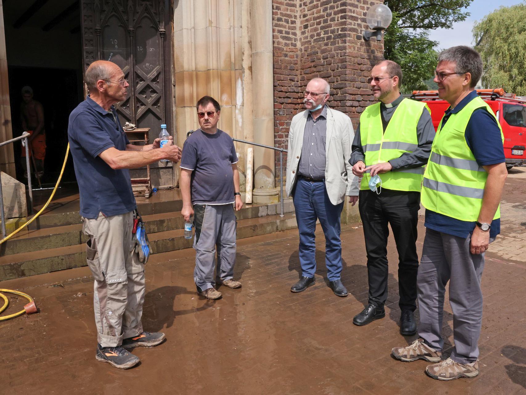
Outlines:
{"type": "Polygon", "coordinates": [[[217,246],[216,281],[225,282],[234,274],[236,263],[236,214],[229,204],[194,204],[197,291],[214,288],[217,246]]]}

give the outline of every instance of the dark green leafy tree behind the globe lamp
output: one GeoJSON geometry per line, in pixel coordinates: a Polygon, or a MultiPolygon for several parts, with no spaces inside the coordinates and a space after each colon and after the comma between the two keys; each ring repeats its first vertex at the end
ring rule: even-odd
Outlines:
{"type": "Polygon", "coordinates": [[[429,40],[429,29],[450,28],[469,16],[473,0],[385,0],[393,20],[384,36],[384,56],[402,67],[402,91],[428,89],[427,80],[437,65],[438,43],[429,40]],[[464,10],[464,11],[463,11],[464,10]]]}

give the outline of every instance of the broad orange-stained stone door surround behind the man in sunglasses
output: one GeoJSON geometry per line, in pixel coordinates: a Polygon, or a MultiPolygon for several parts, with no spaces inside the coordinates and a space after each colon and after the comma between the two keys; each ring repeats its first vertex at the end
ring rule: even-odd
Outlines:
{"type": "MultiPolygon", "coordinates": [[[[199,127],[196,102],[209,95],[221,105],[219,129],[240,140],[251,138],[244,117],[245,89],[242,20],[246,0],[180,0],[174,9],[175,114],[177,144],[199,127]]],[[[249,63],[248,63],[249,64],[249,63]]],[[[245,144],[239,153],[241,189],[244,190],[245,144]]]]}

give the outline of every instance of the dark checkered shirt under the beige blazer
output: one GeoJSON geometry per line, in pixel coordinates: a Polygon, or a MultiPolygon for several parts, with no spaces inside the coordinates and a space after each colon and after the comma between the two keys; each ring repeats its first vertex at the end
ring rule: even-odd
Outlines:
{"type": "Polygon", "coordinates": [[[327,106],[314,120],[312,114],[307,117],[299,160],[299,175],[311,179],[325,179],[325,136],[327,135],[327,106]]]}

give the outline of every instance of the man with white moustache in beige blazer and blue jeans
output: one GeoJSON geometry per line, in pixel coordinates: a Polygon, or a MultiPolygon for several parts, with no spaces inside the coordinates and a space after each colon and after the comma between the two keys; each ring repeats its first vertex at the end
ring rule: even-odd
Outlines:
{"type": "Polygon", "coordinates": [[[316,220],[325,233],[325,264],[330,288],[339,297],[347,296],[340,281],[340,214],[345,196],[358,201],[358,177],[349,164],[354,131],[350,118],[326,105],[329,83],[313,78],[304,92],[305,111],[290,123],[287,154],[288,196],[292,196],[299,229],[301,278],[292,292],[305,291],[315,283],[316,220]]]}

